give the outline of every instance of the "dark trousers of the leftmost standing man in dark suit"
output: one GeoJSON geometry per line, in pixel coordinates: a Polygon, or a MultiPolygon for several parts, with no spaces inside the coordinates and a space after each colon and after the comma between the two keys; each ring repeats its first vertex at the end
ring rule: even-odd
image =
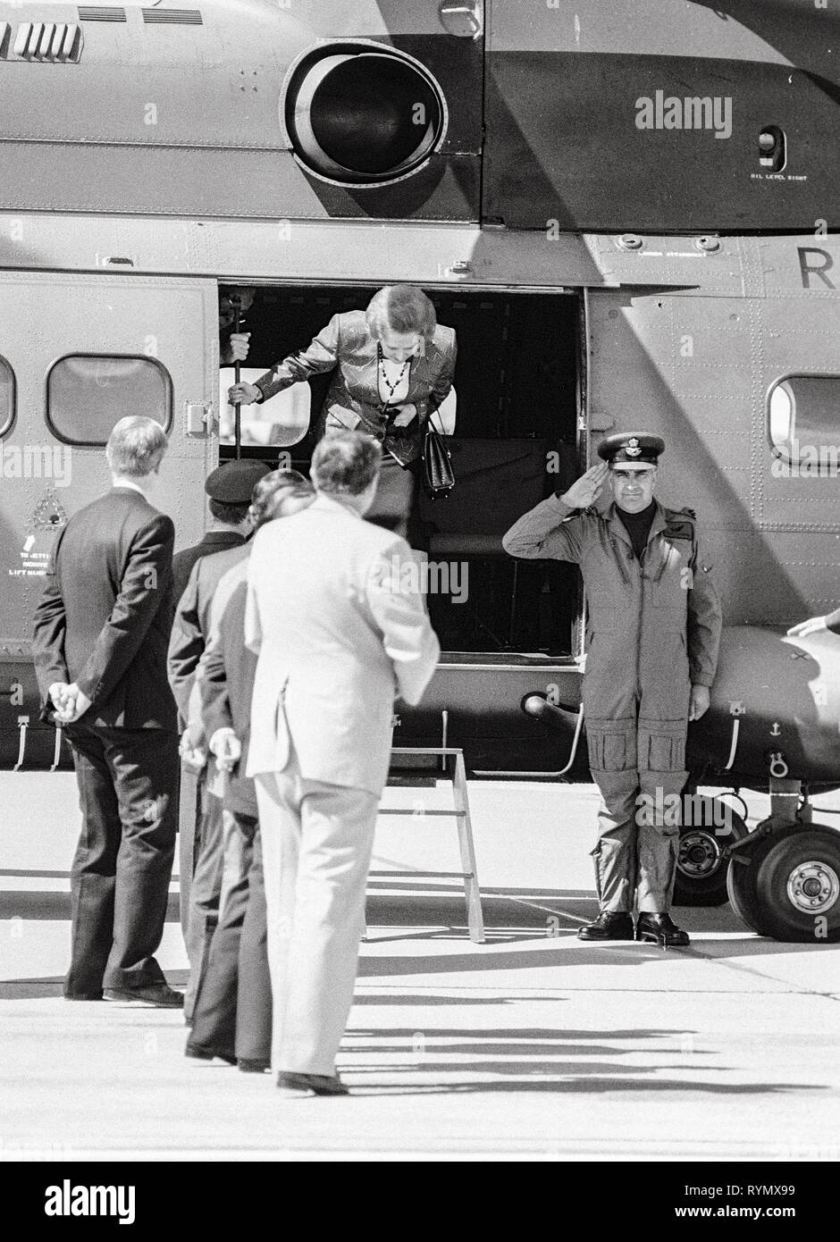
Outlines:
{"type": "Polygon", "coordinates": [[[155,961],[175,854],[178,735],[73,724],[82,832],[71,871],[65,995],[164,982],[155,961]]]}

